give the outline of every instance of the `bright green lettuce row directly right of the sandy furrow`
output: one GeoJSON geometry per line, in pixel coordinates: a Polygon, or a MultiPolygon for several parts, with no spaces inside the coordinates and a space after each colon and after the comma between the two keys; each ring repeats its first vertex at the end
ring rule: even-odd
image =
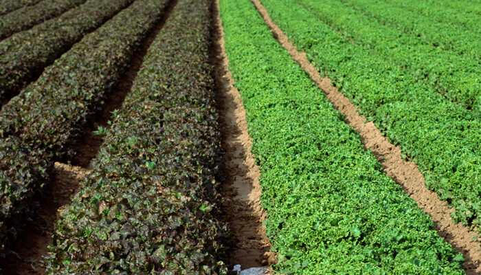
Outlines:
{"type": "Polygon", "coordinates": [[[426,186],[456,208],[451,214],[454,221],[479,230],[479,115],[429,91],[390,61],[349,43],[293,1],[262,3],[273,21],[361,115],[416,162],[426,186]]]}

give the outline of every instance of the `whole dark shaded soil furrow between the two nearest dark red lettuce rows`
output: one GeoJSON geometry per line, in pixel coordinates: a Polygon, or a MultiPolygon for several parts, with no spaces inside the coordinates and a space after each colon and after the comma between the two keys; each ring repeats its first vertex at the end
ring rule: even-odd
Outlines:
{"type": "Polygon", "coordinates": [[[93,131],[98,130],[98,126],[109,128],[107,122],[111,120],[111,112],[122,107],[125,97],[131,91],[148,47],[166,23],[176,4],[177,0],[170,1],[164,15],[142,41],[142,45],[133,56],[126,72],[121,76],[118,85],[104,100],[105,105],[102,111],[89,119],[84,129],[85,134],[77,144],[77,154],[72,165],[60,162],[54,164],[52,182],[47,187],[47,195],[40,201],[38,214],[16,240],[12,248],[14,254],[8,257],[8,262],[1,263],[4,274],[40,275],[45,272],[45,269],[38,263],[48,252],[47,246],[53,241],[52,234],[58,209],[69,203],[69,199],[77,191],[80,181],[91,172],[92,159],[97,156],[102,145],[102,135],[94,135],[93,131]]]}

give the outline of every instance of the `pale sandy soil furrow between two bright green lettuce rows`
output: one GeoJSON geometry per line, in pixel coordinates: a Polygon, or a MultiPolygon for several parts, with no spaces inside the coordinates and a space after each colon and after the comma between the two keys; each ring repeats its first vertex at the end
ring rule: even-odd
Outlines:
{"type": "Polygon", "coordinates": [[[449,215],[454,208],[449,208],[445,201],[440,201],[435,192],[428,190],[424,184],[424,177],[414,162],[404,161],[401,157],[401,148],[391,144],[376,128],[373,122],[367,122],[359,115],[357,108],[341,94],[329,78],[322,78],[317,69],[309,63],[306,54],[298,52],[289,42],[287,36],[273,23],[267,10],[258,0],[251,0],[262,18],[271,29],[273,36],[289,52],[294,61],[309,73],[311,79],[317,84],[328,100],[340,111],[346,122],[363,138],[364,145],[374,153],[383,165],[385,173],[397,184],[401,185],[407,195],[412,197],[419,208],[432,218],[440,236],[450,243],[458,252],[465,255],[464,268],[468,275],[481,274],[481,247],[480,236],[476,231],[469,230],[460,223],[454,223],[449,215]]]}

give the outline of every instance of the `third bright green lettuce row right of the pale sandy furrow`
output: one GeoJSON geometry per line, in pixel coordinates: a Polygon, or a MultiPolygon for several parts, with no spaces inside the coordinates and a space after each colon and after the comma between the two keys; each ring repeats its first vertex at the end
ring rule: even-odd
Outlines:
{"type": "MultiPolygon", "coordinates": [[[[385,3],[385,1],[372,1],[370,2],[372,5],[368,5],[363,0],[339,1],[390,28],[420,37],[444,50],[453,51],[480,61],[481,35],[477,32],[464,30],[452,23],[438,23],[432,18],[397,8],[390,3],[385,3]]],[[[478,19],[479,22],[480,17],[473,16],[473,19],[478,19]]]]}

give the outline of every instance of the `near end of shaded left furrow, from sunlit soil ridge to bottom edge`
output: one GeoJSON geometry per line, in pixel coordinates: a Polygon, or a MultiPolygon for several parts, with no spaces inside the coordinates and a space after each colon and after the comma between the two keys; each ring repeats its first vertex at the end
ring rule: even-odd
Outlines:
{"type": "Polygon", "coordinates": [[[41,199],[34,221],[11,248],[16,254],[11,254],[5,263],[2,263],[3,274],[25,275],[45,272],[36,263],[41,261],[43,254],[47,253],[47,245],[52,243],[56,212],[58,208],[68,203],[69,197],[76,192],[78,184],[88,173],[90,170],[85,168],[55,162],[48,194],[41,199]]]}

